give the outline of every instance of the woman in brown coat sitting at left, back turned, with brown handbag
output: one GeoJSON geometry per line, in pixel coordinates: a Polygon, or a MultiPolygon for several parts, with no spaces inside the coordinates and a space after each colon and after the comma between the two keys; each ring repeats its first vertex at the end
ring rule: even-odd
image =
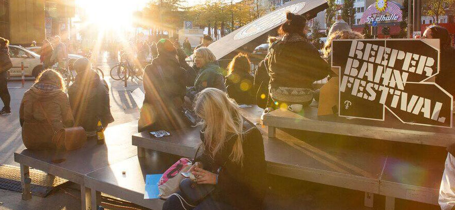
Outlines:
{"type": "Polygon", "coordinates": [[[72,127],[74,119],[60,73],[45,70],[25,92],[19,110],[22,140],[27,149],[55,149],[54,131],[72,127]]]}

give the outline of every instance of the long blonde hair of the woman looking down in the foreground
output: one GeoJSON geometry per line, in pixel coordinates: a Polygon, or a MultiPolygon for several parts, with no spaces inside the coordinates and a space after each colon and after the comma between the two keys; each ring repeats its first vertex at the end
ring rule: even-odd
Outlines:
{"type": "MultiPolygon", "coordinates": [[[[214,159],[230,136],[237,136],[229,159],[243,165],[243,117],[234,100],[216,88],[206,88],[196,95],[194,111],[202,119],[205,152],[214,159]]],[[[202,146],[202,145],[201,145],[202,146]]]]}

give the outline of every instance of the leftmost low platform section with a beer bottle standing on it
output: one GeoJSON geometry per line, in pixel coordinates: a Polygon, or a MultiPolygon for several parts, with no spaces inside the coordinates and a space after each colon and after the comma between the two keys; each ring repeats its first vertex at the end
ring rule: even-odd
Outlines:
{"type": "Polygon", "coordinates": [[[31,151],[14,153],[14,161],[21,165],[22,199],[31,199],[29,167],[62,177],[81,185],[82,209],[90,204],[90,188],[84,187],[85,174],[136,155],[131,135],[137,132],[137,121],[108,127],[104,132],[105,144],[87,141],[83,148],[67,151],[31,151]]]}

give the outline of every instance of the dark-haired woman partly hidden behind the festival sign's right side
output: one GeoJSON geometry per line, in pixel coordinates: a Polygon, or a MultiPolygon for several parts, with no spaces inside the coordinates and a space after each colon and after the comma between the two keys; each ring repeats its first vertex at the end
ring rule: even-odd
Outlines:
{"type": "Polygon", "coordinates": [[[441,62],[436,83],[455,96],[455,49],[450,46],[450,35],[446,28],[438,25],[429,26],[422,38],[438,38],[441,44],[441,62]]]}

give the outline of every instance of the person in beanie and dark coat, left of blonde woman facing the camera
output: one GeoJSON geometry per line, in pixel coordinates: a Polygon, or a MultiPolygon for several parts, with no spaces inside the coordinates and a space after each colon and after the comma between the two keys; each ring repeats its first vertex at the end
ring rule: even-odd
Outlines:
{"type": "Polygon", "coordinates": [[[177,59],[177,49],[169,39],[156,44],[158,55],[144,70],[145,97],[138,131],[170,131],[185,127],[183,103],[187,74],[177,59]]]}

